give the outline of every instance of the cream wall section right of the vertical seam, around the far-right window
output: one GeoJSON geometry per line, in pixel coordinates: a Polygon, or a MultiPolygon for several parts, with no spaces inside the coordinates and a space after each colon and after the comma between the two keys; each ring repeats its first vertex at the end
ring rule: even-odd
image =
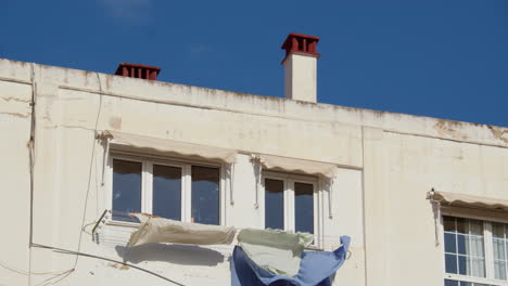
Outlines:
{"type": "Polygon", "coordinates": [[[442,285],[443,244],[435,245],[426,193],[434,187],[506,200],[508,150],[376,129],[365,138],[369,285],[442,285]]]}

